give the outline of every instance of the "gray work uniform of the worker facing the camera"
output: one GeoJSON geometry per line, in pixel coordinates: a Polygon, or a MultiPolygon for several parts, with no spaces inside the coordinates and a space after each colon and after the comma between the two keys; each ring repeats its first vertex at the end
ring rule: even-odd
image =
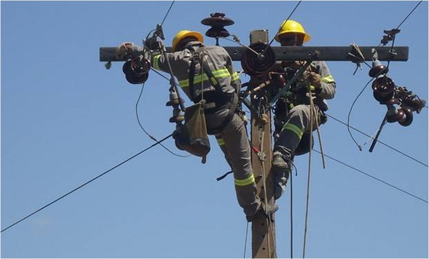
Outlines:
{"type": "MultiPolygon", "coordinates": [[[[321,76],[321,87],[314,91],[316,96],[314,103],[317,115],[315,119],[318,120],[318,124],[320,125],[322,114],[319,107],[325,106],[324,110],[327,109],[324,100],[334,98],[336,83],[324,61],[313,61],[310,67],[312,71],[318,70],[317,73],[321,76]]],[[[274,143],[273,155],[281,154],[286,159],[292,160],[302,135],[310,131],[310,105],[308,103],[308,96],[305,96],[305,90],[304,92],[293,94],[288,99],[293,107],[289,107],[291,109],[284,120],[285,124],[274,143]]],[[[315,124],[313,125],[313,130],[316,130],[315,124]]]]}

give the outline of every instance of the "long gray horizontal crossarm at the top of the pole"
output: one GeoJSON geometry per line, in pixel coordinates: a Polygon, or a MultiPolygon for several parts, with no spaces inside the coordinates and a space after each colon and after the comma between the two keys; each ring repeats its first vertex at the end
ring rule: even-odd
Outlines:
{"type": "MultiPolygon", "coordinates": [[[[245,47],[223,47],[231,56],[233,61],[240,61],[241,56],[247,49],[245,47]]],[[[371,49],[377,50],[378,59],[380,61],[407,61],[408,60],[408,47],[394,47],[390,52],[390,47],[359,47],[365,57],[365,61],[372,61],[371,49]]],[[[347,53],[352,52],[352,47],[272,47],[274,50],[276,60],[278,61],[295,61],[295,60],[308,60],[310,53],[314,50],[319,50],[320,55],[315,60],[323,61],[352,61],[347,53]]],[[[143,53],[141,50],[135,50],[131,53],[132,56],[138,56],[143,53]]],[[[126,61],[123,59],[116,59],[115,47],[100,47],[100,61],[126,61]]],[[[167,48],[167,52],[171,48],[167,48]]],[[[353,53],[353,52],[352,52],[353,53]]]]}

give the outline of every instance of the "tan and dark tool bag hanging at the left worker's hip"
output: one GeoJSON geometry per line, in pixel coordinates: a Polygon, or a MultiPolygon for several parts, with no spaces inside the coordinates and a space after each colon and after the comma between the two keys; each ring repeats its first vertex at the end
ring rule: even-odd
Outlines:
{"type": "Polygon", "coordinates": [[[185,124],[175,130],[173,138],[177,148],[202,157],[201,162],[206,163],[210,141],[202,102],[186,108],[185,124]]]}

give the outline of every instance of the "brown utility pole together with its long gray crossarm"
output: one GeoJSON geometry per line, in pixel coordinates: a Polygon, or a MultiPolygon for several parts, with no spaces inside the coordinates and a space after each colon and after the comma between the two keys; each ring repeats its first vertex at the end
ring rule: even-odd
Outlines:
{"type": "MultiPolygon", "coordinates": [[[[267,30],[255,30],[250,33],[250,42],[268,42],[267,30]]],[[[243,53],[247,51],[245,47],[224,47],[233,61],[240,61],[243,53]]],[[[365,61],[372,61],[372,49],[378,53],[380,61],[407,61],[408,47],[360,47],[360,51],[365,61]]],[[[295,60],[325,60],[325,61],[353,61],[355,49],[351,46],[346,47],[272,47],[275,59],[277,61],[295,61],[295,60]],[[317,51],[317,57],[311,57],[309,53],[317,51]]],[[[115,47],[100,47],[100,61],[126,61],[118,59],[115,56],[115,47]]],[[[171,48],[167,48],[171,51],[171,48]]],[[[132,57],[137,57],[143,52],[133,50],[132,57]]],[[[106,66],[110,67],[110,66],[106,66]]],[[[250,86],[257,86],[266,78],[251,77],[250,86]]],[[[265,91],[259,91],[265,92],[265,91]]],[[[268,91],[267,91],[268,92],[268,91]]],[[[269,95],[269,93],[267,93],[269,95]]],[[[250,98],[252,107],[260,107],[259,102],[270,102],[271,96],[258,95],[256,99],[250,98]],[[262,98],[262,99],[261,99],[262,98]]],[[[252,152],[252,168],[255,176],[257,192],[262,202],[268,205],[274,204],[273,180],[270,173],[272,147],[271,147],[271,113],[265,111],[251,112],[251,144],[258,150],[258,154],[252,152]]],[[[265,215],[258,214],[252,222],[252,257],[253,258],[276,258],[275,224],[274,215],[267,219],[265,215]]]]}

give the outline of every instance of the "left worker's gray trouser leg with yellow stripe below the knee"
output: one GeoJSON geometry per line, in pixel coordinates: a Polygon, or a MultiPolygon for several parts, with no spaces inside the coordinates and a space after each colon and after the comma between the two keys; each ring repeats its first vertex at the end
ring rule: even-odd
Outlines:
{"type": "MultiPolygon", "coordinates": [[[[238,204],[246,215],[252,216],[260,205],[250,161],[250,146],[244,123],[237,115],[218,134],[224,141],[220,146],[232,171],[238,204]]],[[[216,136],[216,139],[219,139],[216,136]]]]}

